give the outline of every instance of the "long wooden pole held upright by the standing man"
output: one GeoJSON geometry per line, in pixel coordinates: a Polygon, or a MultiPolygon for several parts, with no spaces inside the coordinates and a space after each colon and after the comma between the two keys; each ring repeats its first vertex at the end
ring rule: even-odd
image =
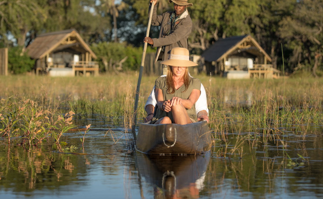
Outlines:
{"type": "MultiPolygon", "coordinates": [[[[148,27],[147,27],[146,37],[149,36],[150,24],[151,24],[151,18],[152,18],[152,12],[154,10],[154,4],[155,4],[155,1],[153,1],[151,3],[151,8],[150,8],[150,14],[149,14],[149,20],[148,20],[148,27]]],[[[137,90],[136,90],[136,99],[135,99],[135,110],[134,110],[134,114],[133,114],[133,123],[132,123],[132,127],[131,127],[131,132],[132,132],[132,135],[133,135],[135,141],[137,139],[136,138],[136,133],[135,133],[135,127],[136,127],[136,123],[137,123],[137,109],[138,109],[139,91],[140,91],[142,71],[143,71],[143,67],[144,67],[144,63],[145,63],[147,45],[148,45],[148,43],[145,42],[144,43],[144,47],[143,47],[143,52],[142,52],[142,58],[141,58],[141,65],[140,65],[139,76],[138,76],[138,83],[137,83],[137,90]]]]}

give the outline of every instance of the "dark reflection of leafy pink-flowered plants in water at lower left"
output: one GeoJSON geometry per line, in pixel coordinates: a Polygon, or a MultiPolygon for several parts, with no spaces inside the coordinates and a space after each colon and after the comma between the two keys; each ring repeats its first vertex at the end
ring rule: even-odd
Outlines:
{"type": "Polygon", "coordinates": [[[5,148],[0,154],[0,187],[32,192],[67,185],[78,180],[77,173],[87,173],[86,167],[75,167],[75,162],[84,162],[82,157],[53,152],[55,148],[49,146],[5,148]]]}

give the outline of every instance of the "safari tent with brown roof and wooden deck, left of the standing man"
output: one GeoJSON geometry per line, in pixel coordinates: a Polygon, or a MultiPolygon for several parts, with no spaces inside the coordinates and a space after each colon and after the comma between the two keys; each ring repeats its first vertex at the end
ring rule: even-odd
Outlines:
{"type": "Polygon", "coordinates": [[[50,76],[98,75],[96,55],[74,29],[37,36],[26,48],[36,60],[36,74],[50,76]]]}

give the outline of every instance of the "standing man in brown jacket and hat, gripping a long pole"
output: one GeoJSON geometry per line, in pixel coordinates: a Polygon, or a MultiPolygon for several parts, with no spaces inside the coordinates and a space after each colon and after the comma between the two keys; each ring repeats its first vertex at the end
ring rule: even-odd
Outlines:
{"type": "MultiPolygon", "coordinates": [[[[172,48],[188,48],[188,35],[192,31],[192,19],[188,14],[187,7],[192,6],[187,0],[169,0],[174,3],[174,11],[167,11],[163,14],[156,14],[157,6],[154,6],[151,25],[160,26],[158,38],[145,37],[143,42],[149,43],[152,47],[157,47],[155,61],[167,60],[172,48]]],[[[157,0],[150,0],[151,4],[157,4],[157,0]]],[[[166,68],[167,69],[167,68],[166,68]]]]}

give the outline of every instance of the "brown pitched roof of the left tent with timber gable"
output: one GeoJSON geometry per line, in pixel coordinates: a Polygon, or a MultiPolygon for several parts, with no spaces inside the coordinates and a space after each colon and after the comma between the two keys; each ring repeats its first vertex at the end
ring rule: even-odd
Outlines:
{"type": "Polygon", "coordinates": [[[89,52],[92,58],[97,58],[74,29],[41,34],[26,49],[31,58],[41,59],[50,52],[64,48],[73,48],[80,53],[89,52]]]}

